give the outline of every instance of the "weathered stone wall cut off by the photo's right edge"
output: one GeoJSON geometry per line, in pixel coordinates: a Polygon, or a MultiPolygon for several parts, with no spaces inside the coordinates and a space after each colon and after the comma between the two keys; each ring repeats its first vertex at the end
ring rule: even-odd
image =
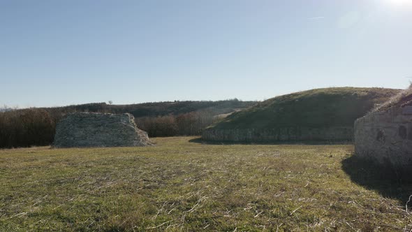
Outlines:
{"type": "Polygon", "coordinates": [[[412,164],[412,115],[404,108],[371,113],[355,122],[358,157],[406,169],[412,164]]]}

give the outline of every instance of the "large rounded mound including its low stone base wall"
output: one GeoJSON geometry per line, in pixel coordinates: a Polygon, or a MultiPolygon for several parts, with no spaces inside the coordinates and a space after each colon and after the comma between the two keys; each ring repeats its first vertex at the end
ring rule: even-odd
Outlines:
{"type": "MultiPolygon", "coordinates": [[[[210,126],[203,137],[234,141],[322,140],[323,133],[329,133],[322,129],[340,128],[335,131],[340,133],[336,136],[340,140],[353,133],[355,119],[399,92],[399,89],[334,87],[277,96],[229,115],[210,126]],[[268,129],[277,130],[270,132],[268,129]],[[235,133],[267,133],[267,138],[246,138],[235,133]]],[[[325,140],[334,140],[334,136],[326,137],[325,140]]]]}

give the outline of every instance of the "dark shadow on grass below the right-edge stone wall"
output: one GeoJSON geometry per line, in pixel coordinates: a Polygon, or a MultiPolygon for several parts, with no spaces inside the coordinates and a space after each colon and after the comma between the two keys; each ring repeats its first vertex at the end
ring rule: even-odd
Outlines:
{"type": "MultiPolygon", "coordinates": [[[[351,155],[341,161],[342,168],[351,180],[366,189],[376,190],[385,198],[395,198],[403,205],[412,194],[411,173],[399,173],[392,166],[378,165],[351,155]]],[[[409,203],[412,207],[412,203],[409,203]]]]}

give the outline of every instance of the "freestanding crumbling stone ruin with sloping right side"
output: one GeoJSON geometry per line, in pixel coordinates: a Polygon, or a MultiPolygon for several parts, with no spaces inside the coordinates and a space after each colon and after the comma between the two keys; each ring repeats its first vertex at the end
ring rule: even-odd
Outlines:
{"type": "Polygon", "coordinates": [[[53,147],[152,145],[131,114],[70,113],[57,124],[53,147]]]}

